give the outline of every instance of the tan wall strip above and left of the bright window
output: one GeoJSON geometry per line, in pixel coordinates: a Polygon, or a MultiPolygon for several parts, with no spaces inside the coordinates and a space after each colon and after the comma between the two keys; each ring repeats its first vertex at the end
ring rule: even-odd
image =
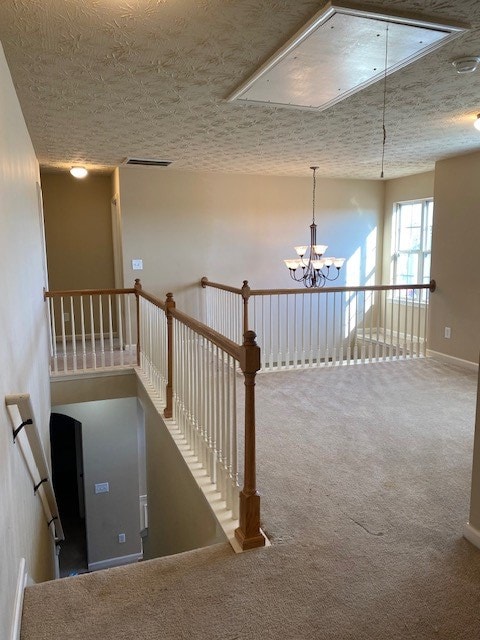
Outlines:
{"type": "MultiPolygon", "coordinates": [[[[382,282],[390,283],[390,263],[392,255],[392,214],[396,202],[421,200],[433,197],[435,172],[419,173],[406,178],[396,178],[385,183],[385,222],[383,225],[382,282]]],[[[436,204],[435,204],[436,210],[436,204]]],[[[436,224],[436,212],[433,224],[436,224]]]]}

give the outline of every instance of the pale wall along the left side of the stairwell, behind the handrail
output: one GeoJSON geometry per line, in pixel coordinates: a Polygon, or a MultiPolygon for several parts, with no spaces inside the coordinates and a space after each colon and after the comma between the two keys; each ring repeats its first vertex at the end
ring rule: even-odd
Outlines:
{"type": "Polygon", "coordinates": [[[47,580],[53,576],[53,544],[20,447],[13,444],[4,404],[7,394],[31,395],[48,453],[48,324],[38,164],[1,45],[0,86],[0,635],[6,638],[20,558],[26,558],[35,581],[47,580]]]}

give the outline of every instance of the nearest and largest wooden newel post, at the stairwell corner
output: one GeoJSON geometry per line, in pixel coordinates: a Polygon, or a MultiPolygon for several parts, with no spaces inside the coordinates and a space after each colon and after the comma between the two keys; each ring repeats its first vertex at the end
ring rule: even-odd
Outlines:
{"type": "Polygon", "coordinates": [[[254,331],[245,332],[240,360],[245,378],[245,462],[240,526],[235,530],[235,537],[243,550],[265,545],[265,537],[260,531],[260,496],[256,487],[255,376],[260,369],[260,347],[255,338],[254,331]]]}

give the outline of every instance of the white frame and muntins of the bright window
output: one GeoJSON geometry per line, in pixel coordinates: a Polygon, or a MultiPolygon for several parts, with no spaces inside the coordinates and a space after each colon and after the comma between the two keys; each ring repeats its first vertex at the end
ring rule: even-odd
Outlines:
{"type": "MultiPolygon", "coordinates": [[[[430,246],[429,250],[426,250],[427,243],[425,241],[426,234],[428,234],[428,210],[430,204],[433,205],[433,198],[421,198],[417,200],[405,200],[402,202],[395,202],[393,205],[393,213],[392,213],[392,233],[391,233],[391,266],[390,266],[390,278],[392,284],[404,284],[403,282],[398,282],[397,280],[397,265],[398,258],[401,255],[417,255],[418,256],[418,270],[416,274],[416,282],[411,284],[426,284],[424,282],[425,277],[425,263],[426,258],[431,256],[431,238],[428,243],[430,246]],[[407,205],[421,205],[422,214],[421,214],[421,229],[420,229],[420,243],[418,249],[409,249],[409,250],[400,250],[400,229],[401,229],[401,208],[407,205]]],[[[432,212],[433,215],[433,212],[432,212]]],[[[432,218],[433,223],[433,218],[432,218]]],[[[430,274],[427,276],[430,278],[430,274]]],[[[396,292],[391,297],[401,299],[403,292],[396,292]]],[[[418,290],[412,290],[412,297],[418,297],[418,290]]]]}

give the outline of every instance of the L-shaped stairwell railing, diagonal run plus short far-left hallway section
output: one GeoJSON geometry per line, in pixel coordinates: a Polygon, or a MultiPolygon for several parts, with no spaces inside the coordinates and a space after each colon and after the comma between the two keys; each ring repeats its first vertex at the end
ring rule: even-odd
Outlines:
{"type": "Polygon", "coordinates": [[[139,280],[132,289],[47,292],[45,298],[52,375],[137,367],[164,405],[164,417],[176,423],[238,518],[235,538],[241,548],[263,546],[256,490],[255,376],[260,349],[255,333],[246,331],[243,339],[232,341],[176,309],[172,294],[162,301],[143,291],[139,280]],[[237,425],[240,376],[245,386],[243,432],[237,425]]]}

